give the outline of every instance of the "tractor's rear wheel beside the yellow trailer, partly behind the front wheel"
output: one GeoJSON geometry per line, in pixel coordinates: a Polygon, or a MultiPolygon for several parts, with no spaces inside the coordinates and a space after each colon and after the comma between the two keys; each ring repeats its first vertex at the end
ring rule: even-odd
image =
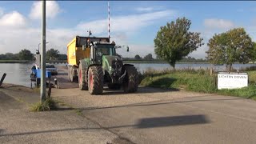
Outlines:
{"type": "Polygon", "coordinates": [[[78,68],[78,84],[80,90],[88,90],[86,66],[82,65],[82,62],[80,62],[78,68]]]}

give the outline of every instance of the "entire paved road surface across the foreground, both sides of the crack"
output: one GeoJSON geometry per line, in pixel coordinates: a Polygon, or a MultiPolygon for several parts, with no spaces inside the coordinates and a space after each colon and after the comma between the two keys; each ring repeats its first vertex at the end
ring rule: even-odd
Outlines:
{"type": "Polygon", "coordinates": [[[32,91],[0,89],[0,143],[255,143],[256,102],[140,87],[135,94],[78,90],[59,67],[59,110],[32,113],[32,91]]]}

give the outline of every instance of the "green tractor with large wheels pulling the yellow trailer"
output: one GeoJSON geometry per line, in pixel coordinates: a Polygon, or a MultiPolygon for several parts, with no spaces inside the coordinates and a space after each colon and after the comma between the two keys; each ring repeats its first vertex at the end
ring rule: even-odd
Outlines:
{"type": "MultiPolygon", "coordinates": [[[[138,90],[138,72],[134,65],[123,64],[116,54],[114,42],[86,42],[82,50],[90,49],[90,57],[79,61],[78,83],[80,90],[102,94],[103,86],[111,90],[132,93],[138,90]],[[89,46],[88,46],[89,45],[89,46]]],[[[129,47],[127,47],[129,51],[129,47]]]]}

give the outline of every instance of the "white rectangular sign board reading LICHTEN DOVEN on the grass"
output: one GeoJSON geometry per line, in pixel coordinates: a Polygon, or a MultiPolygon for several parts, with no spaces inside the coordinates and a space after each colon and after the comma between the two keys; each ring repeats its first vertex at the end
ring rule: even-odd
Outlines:
{"type": "Polygon", "coordinates": [[[218,74],[218,90],[238,89],[248,86],[248,74],[218,74]]]}

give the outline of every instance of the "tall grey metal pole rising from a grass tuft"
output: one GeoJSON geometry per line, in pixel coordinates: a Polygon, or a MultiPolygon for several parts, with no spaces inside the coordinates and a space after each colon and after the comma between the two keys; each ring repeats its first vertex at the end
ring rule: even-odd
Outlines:
{"type": "Polygon", "coordinates": [[[41,31],[41,102],[46,100],[46,0],[42,0],[41,31]]]}

